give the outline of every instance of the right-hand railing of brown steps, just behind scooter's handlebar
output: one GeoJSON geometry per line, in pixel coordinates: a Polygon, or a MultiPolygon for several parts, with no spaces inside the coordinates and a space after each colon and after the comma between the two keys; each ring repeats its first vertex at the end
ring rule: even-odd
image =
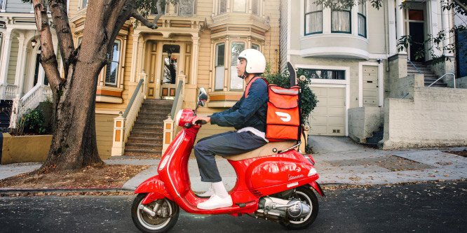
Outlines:
{"type": "Polygon", "coordinates": [[[165,153],[170,143],[172,143],[175,132],[177,132],[177,125],[174,124],[175,115],[183,107],[184,99],[184,84],[185,78],[183,74],[179,76],[177,90],[175,91],[175,99],[172,104],[170,115],[164,120],[163,125],[163,139],[162,139],[162,154],[165,153]]]}

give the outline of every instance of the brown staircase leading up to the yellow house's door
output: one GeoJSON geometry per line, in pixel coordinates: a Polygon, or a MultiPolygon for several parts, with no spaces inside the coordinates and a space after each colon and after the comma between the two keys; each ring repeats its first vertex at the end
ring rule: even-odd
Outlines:
{"type": "Polygon", "coordinates": [[[158,156],[162,153],[163,120],[173,100],[144,99],[135,125],[125,143],[124,155],[158,156]]]}

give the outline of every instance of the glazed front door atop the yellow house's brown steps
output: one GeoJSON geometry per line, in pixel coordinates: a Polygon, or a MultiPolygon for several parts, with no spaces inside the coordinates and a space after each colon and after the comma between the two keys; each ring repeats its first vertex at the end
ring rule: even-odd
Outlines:
{"type": "Polygon", "coordinates": [[[175,99],[175,90],[177,90],[179,55],[172,54],[162,57],[161,73],[161,99],[175,99]]]}

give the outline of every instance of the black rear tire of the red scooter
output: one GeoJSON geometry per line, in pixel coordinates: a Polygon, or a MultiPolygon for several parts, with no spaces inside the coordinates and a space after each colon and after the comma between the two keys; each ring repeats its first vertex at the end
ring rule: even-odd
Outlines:
{"type": "Polygon", "coordinates": [[[309,227],[318,216],[318,197],[316,197],[315,192],[311,190],[309,185],[300,186],[295,191],[295,196],[298,196],[300,200],[306,201],[306,204],[309,204],[311,207],[311,215],[308,216],[303,221],[290,221],[289,223],[280,223],[288,230],[303,230],[309,227]]]}

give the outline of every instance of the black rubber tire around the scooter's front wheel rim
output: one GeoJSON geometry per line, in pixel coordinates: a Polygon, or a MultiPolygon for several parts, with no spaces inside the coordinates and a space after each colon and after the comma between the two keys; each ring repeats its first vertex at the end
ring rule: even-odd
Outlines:
{"type": "MultiPolygon", "coordinates": [[[[133,223],[135,223],[135,226],[141,232],[147,232],[147,233],[168,232],[170,229],[172,229],[172,227],[175,226],[175,223],[177,223],[178,216],[180,214],[180,207],[175,202],[173,202],[172,200],[168,198],[163,199],[164,202],[169,207],[170,216],[172,217],[168,218],[168,220],[163,221],[161,224],[153,225],[147,222],[147,220],[151,220],[151,217],[149,216],[149,214],[140,210],[140,204],[142,200],[144,199],[144,197],[146,197],[146,195],[148,195],[148,193],[140,193],[133,200],[133,204],[131,206],[131,218],[133,219],[133,223]]],[[[156,201],[157,200],[155,200],[154,202],[151,202],[149,206],[151,206],[151,204],[154,205],[156,201]]]]}

